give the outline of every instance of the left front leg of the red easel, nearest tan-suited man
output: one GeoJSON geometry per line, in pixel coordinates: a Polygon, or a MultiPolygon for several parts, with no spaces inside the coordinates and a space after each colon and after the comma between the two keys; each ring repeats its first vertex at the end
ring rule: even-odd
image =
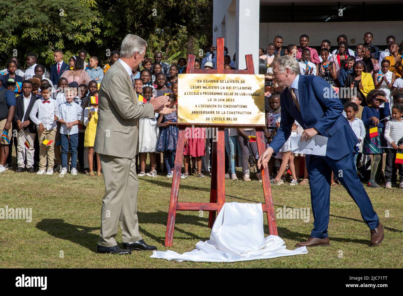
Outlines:
{"type": "Polygon", "coordinates": [[[185,127],[179,128],[178,145],[175,155],[174,174],[172,178],[171,197],[169,201],[168,221],[166,223],[165,246],[172,246],[175,217],[178,203],[179,182],[181,180],[182,157],[185,147],[185,127]]]}

